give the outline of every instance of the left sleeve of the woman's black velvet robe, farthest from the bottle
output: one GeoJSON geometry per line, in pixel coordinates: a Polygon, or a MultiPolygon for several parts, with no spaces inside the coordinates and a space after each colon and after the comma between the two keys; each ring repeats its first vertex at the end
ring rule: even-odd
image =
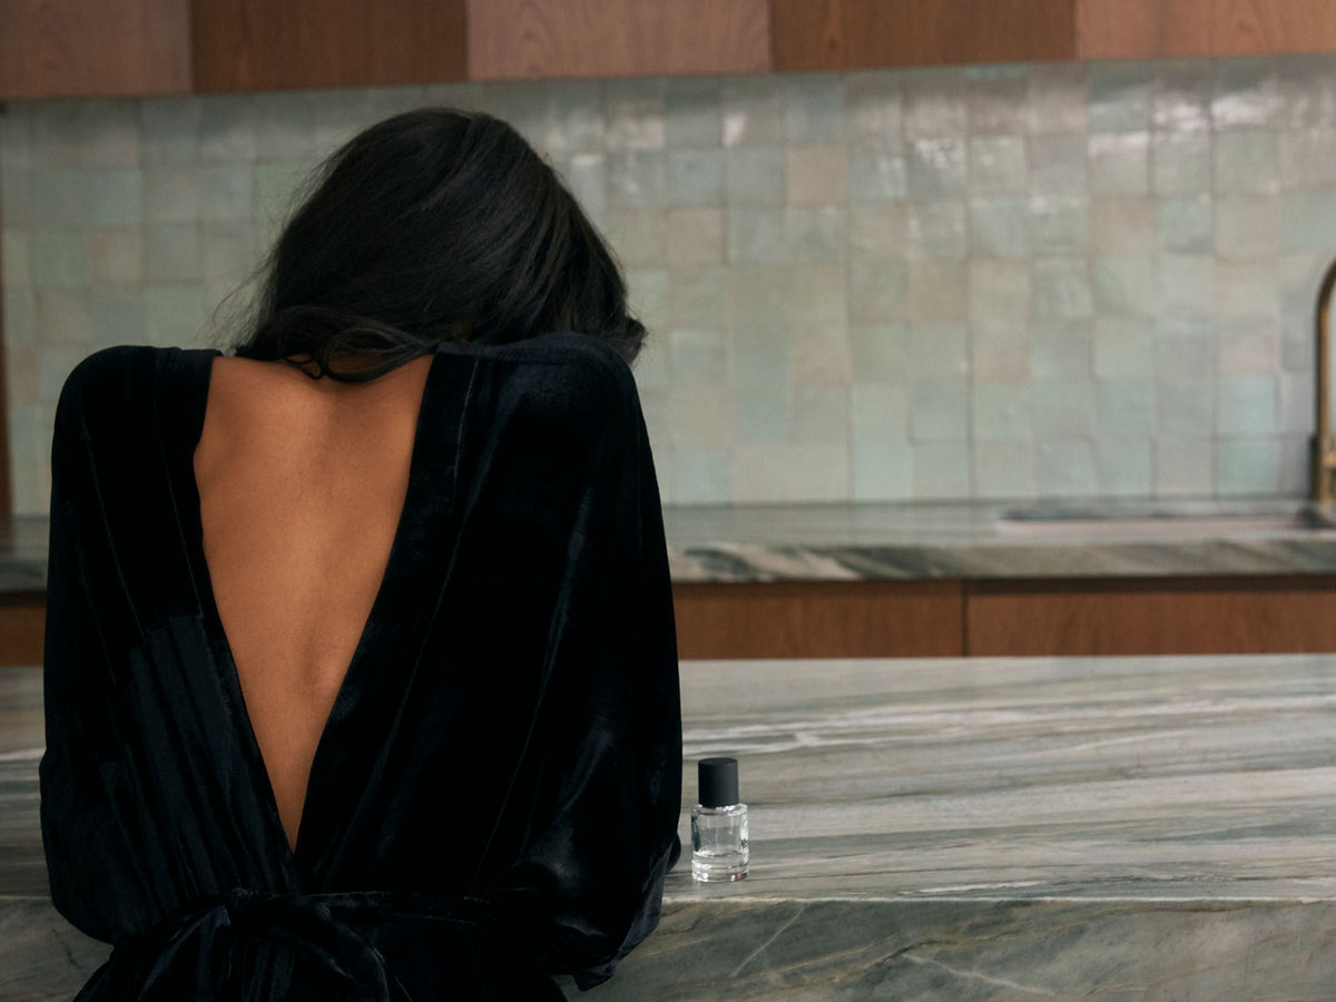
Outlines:
{"type": "Polygon", "coordinates": [[[146,886],[116,796],[130,774],[116,652],[136,643],[139,624],[115,587],[120,570],[92,449],[92,429],[127,411],[126,361],[123,350],[107,350],[81,362],[56,409],[43,659],[41,834],[51,898],[104,942],[143,921],[146,886]]]}

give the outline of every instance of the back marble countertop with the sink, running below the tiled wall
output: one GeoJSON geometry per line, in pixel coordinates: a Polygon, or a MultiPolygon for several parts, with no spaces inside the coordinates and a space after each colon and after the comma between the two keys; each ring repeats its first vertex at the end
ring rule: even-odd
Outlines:
{"type": "MultiPolygon", "coordinates": [[[[1336,573],[1336,516],[1297,498],[664,510],[673,581],[1336,573]]],[[[47,520],[0,524],[0,593],[40,592],[47,520]]]]}

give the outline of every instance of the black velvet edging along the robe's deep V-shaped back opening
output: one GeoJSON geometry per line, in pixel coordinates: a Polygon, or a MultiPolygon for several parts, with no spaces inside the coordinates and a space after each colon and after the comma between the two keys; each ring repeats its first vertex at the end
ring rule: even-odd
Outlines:
{"type": "Polygon", "coordinates": [[[287,834],[286,834],[286,828],[285,828],[285,824],[283,824],[282,812],[281,812],[279,804],[278,804],[278,795],[277,795],[277,791],[275,791],[274,768],[273,768],[275,763],[270,763],[270,762],[267,762],[265,759],[263,751],[262,751],[261,744],[259,744],[259,739],[257,736],[254,720],[253,720],[253,716],[251,716],[251,708],[250,708],[250,705],[247,704],[247,700],[246,700],[246,688],[242,684],[242,676],[240,676],[240,672],[239,672],[239,669],[236,667],[236,659],[235,659],[235,653],[234,653],[234,645],[232,645],[231,639],[227,636],[227,631],[223,627],[222,616],[219,613],[216,593],[215,593],[215,588],[214,588],[214,576],[212,576],[212,570],[208,566],[208,558],[206,556],[206,549],[204,549],[203,502],[202,502],[202,496],[200,496],[200,490],[199,490],[199,480],[196,477],[195,468],[194,468],[194,458],[195,458],[195,452],[199,448],[199,442],[200,442],[200,440],[203,437],[204,425],[206,425],[207,415],[208,415],[208,398],[211,395],[211,389],[212,389],[212,385],[214,385],[214,371],[215,371],[214,366],[215,366],[215,362],[216,362],[216,359],[219,357],[220,355],[218,353],[214,353],[206,361],[206,371],[204,371],[204,375],[203,375],[203,379],[204,379],[204,391],[202,394],[203,395],[203,405],[200,406],[198,428],[195,429],[195,434],[192,437],[194,445],[192,445],[192,449],[190,452],[191,469],[188,470],[188,476],[186,478],[187,482],[194,489],[194,498],[192,498],[194,500],[194,513],[195,513],[196,520],[198,520],[198,525],[195,528],[198,529],[198,540],[199,540],[198,557],[199,557],[200,568],[202,568],[202,576],[200,576],[202,577],[202,581],[200,581],[200,592],[202,592],[202,595],[200,595],[200,603],[202,603],[203,611],[206,613],[206,616],[204,616],[206,628],[215,632],[215,636],[212,637],[212,640],[214,640],[215,649],[220,652],[220,659],[219,660],[222,663],[222,671],[227,675],[227,677],[224,679],[224,681],[226,681],[227,687],[236,696],[236,703],[238,703],[236,724],[238,724],[238,731],[239,731],[238,736],[246,744],[247,749],[250,751],[250,756],[248,758],[253,762],[257,762],[258,766],[259,766],[258,770],[255,770],[255,775],[253,778],[254,783],[265,794],[265,798],[267,800],[267,806],[269,806],[271,816],[273,816],[273,823],[274,823],[274,828],[275,828],[278,840],[295,858],[299,854],[299,850],[301,850],[301,846],[302,846],[302,834],[301,832],[302,832],[303,824],[305,824],[305,822],[306,822],[306,819],[309,816],[307,807],[310,804],[311,790],[313,790],[314,780],[315,780],[315,778],[318,775],[318,771],[319,771],[319,767],[321,767],[322,752],[325,751],[325,748],[327,745],[327,737],[329,737],[329,731],[330,731],[331,721],[334,720],[335,715],[339,713],[341,709],[345,708],[345,695],[347,693],[347,691],[350,689],[350,687],[358,684],[359,668],[361,668],[362,661],[365,660],[365,648],[366,648],[366,641],[367,641],[367,633],[371,629],[371,624],[377,621],[378,613],[381,613],[382,607],[387,601],[387,596],[386,596],[387,584],[393,580],[397,561],[403,558],[405,546],[407,545],[406,540],[405,540],[405,536],[406,536],[406,522],[407,522],[407,514],[409,514],[409,510],[410,510],[410,505],[414,501],[414,498],[413,498],[413,489],[414,489],[414,484],[418,480],[418,477],[415,476],[415,473],[417,473],[420,462],[421,462],[420,452],[424,448],[424,438],[425,438],[425,436],[424,436],[422,425],[424,425],[424,417],[425,417],[425,411],[426,411],[426,397],[428,397],[428,393],[429,393],[429,389],[430,389],[430,385],[432,385],[432,373],[433,373],[433,370],[436,367],[437,357],[438,355],[436,355],[436,354],[432,355],[432,361],[428,363],[428,371],[426,371],[425,378],[422,381],[422,390],[421,390],[421,395],[420,395],[418,402],[417,402],[417,414],[415,414],[415,418],[414,418],[414,422],[413,422],[414,424],[414,432],[413,432],[413,442],[411,442],[410,449],[409,449],[409,469],[407,469],[406,486],[405,486],[403,497],[402,497],[401,504],[399,504],[398,516],[397,516],[397,520],[395,520],[395,525],[394,525],[394,530],[393,530],[393,537],[391,537],[390,548],[389,548],[389,552],[386,553],[386,558],[385,558],[385,561],[382,564],[381,577],[379,577],[379,581],[377,582],[375,593],[374,593],[374,599],[371,601],[370,609],[369,609],[365,620],[362,621],[361,629],[358,631],[357,641],[355,641],[355,644],[353,647],[351,656],[349,657],[349,661],[347,661],[347,664],[346,664],[346,667],[343,669],[343,675],[342,675],[342,677],[338,681],[338,685],[337,685],[337,689],[335,689],[335,696],[334,696],[334,699],[333,699],[333,701],[330,704],[329,711],[325,713],[325,719],[323,719],[323,721],[321,724],[319,736],[318,736],[317,743],[315,743],[315,751],[314,751],[314,755],[311,758],[310,768],[309,768],[309,771],[306,774],[305,787],[303,787],[302,796],[301,796],[301,804],[302,806],[301,806],[301,812],[298,814],[298,818],[297,818],[297,832],[298,834],[297,834],[295,840],[291,842],[291,843],[287,839],[287,834]]]}

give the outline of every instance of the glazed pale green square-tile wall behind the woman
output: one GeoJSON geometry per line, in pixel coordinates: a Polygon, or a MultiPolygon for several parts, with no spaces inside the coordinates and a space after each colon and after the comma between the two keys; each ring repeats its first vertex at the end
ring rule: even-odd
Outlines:
{"type": "Polygon", "coordinates": [[[668,501],[1305,489],[1325,56],[11,104],[19,512],[77,359],[219,343],[315,160],[424,103],[513,122],[616,247],[668,501]]]}

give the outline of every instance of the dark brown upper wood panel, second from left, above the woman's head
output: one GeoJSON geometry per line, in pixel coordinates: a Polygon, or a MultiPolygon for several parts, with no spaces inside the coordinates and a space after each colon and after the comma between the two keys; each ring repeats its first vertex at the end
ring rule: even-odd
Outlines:
{"type": "Polygon", "coordinates": [[[191,0],[195,90],[465,76],[464,0],[191,0]]]}

